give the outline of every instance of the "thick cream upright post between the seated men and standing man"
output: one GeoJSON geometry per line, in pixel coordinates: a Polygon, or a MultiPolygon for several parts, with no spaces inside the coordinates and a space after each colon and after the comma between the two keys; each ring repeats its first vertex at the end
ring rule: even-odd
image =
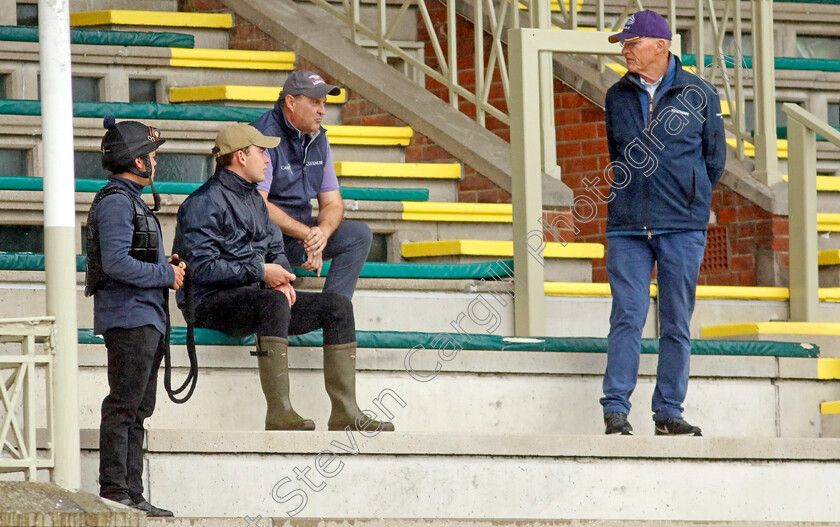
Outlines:
{"type": "MultiPolygon", "coordinates": [[[[543,30],[543,32],[548,30],[543,30]]],[[[545,334],[545,286],[543,265],[529,254],[530,235],[542,239],[542,152],[537,137],[540,105],[528,94],[539,81],[538,47],[532,43],[536,30],[508,32],[510,60],[510,162],[513,195],[513,268],[524,286],[514,297],[514,333],[517,336],[545,334]]],[[[540,251],[541,255],[542,251],[540,251]]]]}

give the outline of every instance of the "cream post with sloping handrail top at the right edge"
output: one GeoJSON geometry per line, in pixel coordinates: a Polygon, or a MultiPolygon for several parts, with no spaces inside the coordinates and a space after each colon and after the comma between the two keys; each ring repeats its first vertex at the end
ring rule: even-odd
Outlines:
{"type": "Polygon", "coordinates": [[[790,240],[790,320],[818,322],[817,134],[840,147],[840,132],[796,104],[788,115],[788,221],[790,240]]]}

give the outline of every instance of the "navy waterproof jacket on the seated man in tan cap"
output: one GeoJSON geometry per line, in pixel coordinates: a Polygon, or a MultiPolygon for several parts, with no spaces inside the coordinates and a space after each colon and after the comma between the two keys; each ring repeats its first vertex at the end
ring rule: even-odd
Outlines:
{"type": "MultiPolygon", "coordinates": [[[[260,287],[266,263],[292,270],[257,185],[222,167],[178,209],[172,253],[188,262],[193,307],[216,291],[260,287]]],[[[184,288],[176,299],[184,309],[184,288]]]]}

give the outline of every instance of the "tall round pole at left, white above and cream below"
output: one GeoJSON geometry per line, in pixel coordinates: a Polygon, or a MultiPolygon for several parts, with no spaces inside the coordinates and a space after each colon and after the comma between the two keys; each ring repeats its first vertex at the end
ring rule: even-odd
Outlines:
{"type": "Polygon", "coordinates": [[[38,1],[47,315],[55,317],[56,484],[81,486],[70,2],[38,1]]]}

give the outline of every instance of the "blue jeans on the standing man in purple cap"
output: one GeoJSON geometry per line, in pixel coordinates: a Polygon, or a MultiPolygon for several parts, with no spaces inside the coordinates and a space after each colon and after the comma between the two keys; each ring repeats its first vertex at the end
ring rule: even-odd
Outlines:
{"type": "Polygon", "coordinates": [[[607,274],[613,300],[601,398],[604,413],[630,413],[656,264],[659,362],[651,409],[654,421],[682,417],[691,358],[689,323],[705,247],[706,231],[609,238],[607,274]]]}

